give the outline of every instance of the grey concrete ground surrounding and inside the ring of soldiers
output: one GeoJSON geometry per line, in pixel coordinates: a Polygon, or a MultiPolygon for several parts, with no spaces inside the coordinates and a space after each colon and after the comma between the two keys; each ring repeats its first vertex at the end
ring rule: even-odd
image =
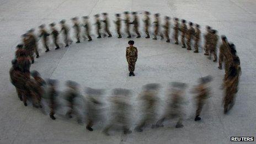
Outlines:
{"type": "MultiPolygon", "coordinates": [[[[138,16],[143,17],[141,14],[138,16]]],[[[0,0],[0,143],[231,143],[231,136],[255,137],[255,22],[256,1],[252,0],[0,0]],[[94,35],[92,42],[83,41],[57,51],[51,44],[51,51],[47,54],[39,41],[40,58],[36,59],[31,70],[38,70],[44,78],[58,79],[60,90],[68,79],[81,84],[82,94],[84,87],[106,89],[105,97],[113,88],[131,89],[134,105],[132,130],[140,119],[137,111],[141,106],[137,103],[137,95],[144,84],[162,84],[160,97],[164,101],[169,82],[185,82],[189,87],[182,129],[175,129],[175,122],[169,121],[161,129],[147,127],[141,133],[122,135],[121,132],[114,132],[107,137],[102,134],[100,126],[88,132],[84,125],[78,125],[75,120],[66,120],[60,115],[56,116],[57,120],[51,120],[40,110],[31,105],[25,107],[18,100],[9,82],[8,71],[20,35],[30,28],[38,30],[42,23],[58,23],[61,19],[67,19],[70,23],[70,18],[75,16],[90,15],[91,22],[94,22],[93,15],[102,12],[108,12],[112,22],[115,13],[125,10],[148,10],[160,13],[162,17],[183,18],[200,24],[203,32],[205,25],[210,25],[218,30],[218,34],[225,34],[228,40],[234,42],[241,59],[242,76],[237,101],[230,113],[224,115],[221,105],[223,91],[220,86],[224,71],[218,70],[217,64],[208,60],[202,50],[194,54],[173,43],[133,38],[138,47],[138,61],[136,77],[129,77],[125,60],[125,47],[129,39],[117,39],[113,23],[113,38],[96,39],[94,35]],[[202,120],[195,122],[190,89],[198,78],[208,74],[214,76],[212,97],[202,111],[202,120]]],[[[161,108],[163,104],[161,102],[161,108]]],[[[161,113],[160,110],[159,115],[161,113]]]]}

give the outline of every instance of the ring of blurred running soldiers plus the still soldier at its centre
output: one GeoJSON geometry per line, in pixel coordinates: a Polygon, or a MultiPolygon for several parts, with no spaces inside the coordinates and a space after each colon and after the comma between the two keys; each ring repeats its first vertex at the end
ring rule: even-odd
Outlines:
{"type": "MultiPolygon", "coordinates": [[[[122,38],[124,34],[121,33],[121,22],[124,21],[125,32],[127,38],[132,38],[130,33],[130,25],[134,26],[134,32],[137,34],[136,38],[141,38],[139,31],[140,22],[138,20],[137,12],[132,12],[133,20],[130,20],[130,13],[124,12],[124,19],[121,19],[121,14],[115,14],[116,20],[114,21],[116,25],[116,33],[118,38],[122,38]]],[[[146,39],[150,38],[150,12],[143,12],[145,19],[145,34],[146,39]]],[[[108,34],[110,38],[112,36],[109,30],[109,19],[108,13],[102,13],[103,20],[100,20],[100,15],[96,14],[95,17],[95,28],[97,31],[97,38],[105,37],[108,34]],[[102,33],[102,24],[104,24],[104,31],[106,34],[102,33]]],[[[160,14],[154,14],[153,25],[153,40],[157,40],[160,36],[161,40],[166,38],[166,42],[171,42],[169,31],[170,31],[170,17],[164,17],[164,24],[160,23],[160,14]],[[161,27],[163,27],[163,33],[161,33],[161,27]]],[[[81,42],[80,38],[83,37],[84,40],[92,41],[92,36],[90,34],[91,25],[89,22],[89,17],[82,17],[84,27],[84,36],[81,36],[81,23],[79,23],[78,17],[72,18],[73,29],[76,36],[76,43],[81,42]]],[[[179,37],[183,48],[191,50],[191,41],[194,40],[194,52],[199,52],[199,45],[201,40],[200,25],[194,24],[192,22],[186,24],[186,20],[179,20],[174,18],[173,24],[173,42],[179,45],[179,37]]],[[[93,125],[97,124],[100,120],[104,119],[104,105],[103,102],[103,89],[86,88],[84,97],[78,90],[79,84],[73,81],[67,81],[67,89],[64,93],[57,90],[58,81],[56,79],[47,79],[46,81],[40,76],[37,71],[30,71],[31,63],[34,63],[34,54],[36,58],[39,58],[38,51],[38,38],[42,38],[42,44],[44,45],[46,51],[49,52],[49,36],[52,35],[56,50],[60,49],[59,37],[60,33],[63,33],[63,40],[65,42],[65,47],[72,44],[70,38],[70,28],[66,24],[65,20],[60,21],[61,30],[58,31],[55,23],[51,23],[49,26],[51,28],[51,33],[48,32],[44,24],[39,26],[39,36],[36,36],[35,30],[31,29],[25,33],[23,37],[23,44],[17,45],[17,50],[15,51],[15,58],[12,60],[12,67],[10,68],[10,81],[17,90],[18,98],[23,101],[24,105],[28,105],[28,101],[35,108],[41,109],[46,113],[47,108],[49,108],[49,115],[52,120],[56,119],[56,111],[60,109],[60,95],[64,95],[66,105],[68,110],[66,111],[65,117],[72,118],[77,117],[78,123],[86,123],[86,129],[93,131],[93,125]],[[85,114],[79,113],[77,110],[76,99],[84,99],[85,114]],[[45,104],[46,102],[46,104],[45,104]]],[[[205,54],[213,61],[217,61],[217,46],[218,46],[218,35],[217,30],[212,29],[210,26],[206,26],[206,33],[204,35],[204,51],[205,54]],[[211,56],[212,55],[212,56],[211,56]]],[[[135,76],[135,63],[137,60],[137,48],[134,47],[134,41],[129,41],[129,47],[126,47],[126,58],[129,65],[129,76],[135,76]]],[[[218,68],[222,69],[222,63],[225,66],[225,76],[223,78],[222,89],[224,89],[223,96],[223,107],[224,113],[232,108],[234,105],[236,93],[238,92],[238,82],[239,76],[241,75],[241,67],[239,57],[236,54],[235,45],[232,42],[228,42],[226,36],[221,36],[221,44],[219,46],[218,52],[218,68]]],[[[198,86],[195,86],[192,93],[195,93],[195,121],[201,120],[200,114],[201,110],[210,97],[209,83],[212,81],[211,76],[202,77],[199,79],[198,86]]],[[[166,110],[163,115],[157,119],[157,109],[159,102],[159,89],[161,85],[158,83],[150,83],[143,86],[142,92],[138,95],[142,105],[141,119],[135,127],[135,131],[141,132],[143,128],[150,124],[151,128],[162,127],[163,122],[169,119],[177,119],[175,127],[183,127],[184,118],[184,98],[185,89],[187,84],[181,82],[172,82],[169,85],[166,94],[166,110]]],[[[131,114],[131,90],[115,88],[111,92],[111,97],[109,99],[111,105],[111,114],[109,124],[106,125],[103,132],[109,135],[109,130],[115,128],[121,128],[124,134],[130,134],[130,121],[129,115],[131,114]]],[[[78,108],[77,108],[78,107],[78,108]]],[[[81,109],[81,108],[79,108],[81,109]]],[[[82,110],[83,111],[83,110],[82,110]]]]}

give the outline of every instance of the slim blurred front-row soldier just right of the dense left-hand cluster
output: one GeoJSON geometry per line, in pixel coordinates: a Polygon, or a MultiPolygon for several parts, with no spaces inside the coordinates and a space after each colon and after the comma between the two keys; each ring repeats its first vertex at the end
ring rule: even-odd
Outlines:
{"type": "Polygon", "coordinates": [[[48,79],[47,85],[49,86],[47,94],[49,97],[50,118],[52,120],[55,120],[56,118],[54,114],[57,108],[57,96],[58,96],[58,92],[56,90],[56,85],[57,85],[56,79],[48,79]]]}

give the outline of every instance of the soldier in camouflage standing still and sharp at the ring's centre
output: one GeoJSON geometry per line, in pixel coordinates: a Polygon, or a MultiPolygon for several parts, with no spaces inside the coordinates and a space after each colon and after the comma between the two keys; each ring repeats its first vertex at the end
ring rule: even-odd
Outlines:
{"type": "Polygon", "coordinates": [[[128,62],[129,76],[135,76],[135,63],[138,58],[138,50],[137,47],[134,47],[134,41],[128,41],[129,47],[126,47],[126,60],[128,62]]]}

